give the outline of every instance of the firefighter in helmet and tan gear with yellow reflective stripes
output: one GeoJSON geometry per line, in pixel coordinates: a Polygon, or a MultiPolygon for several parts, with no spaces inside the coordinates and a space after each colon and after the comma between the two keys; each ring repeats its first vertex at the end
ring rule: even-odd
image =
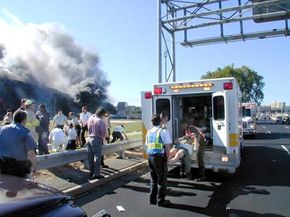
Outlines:
{"type": "Polygon", "coordinates": [[[35,101],[33,99],[27,99],[24,105],[27,114],[25,127],[29,129],[34,141],[37,141],[38,135],[36,133],[36,127],[38,126],[38,120],[36,119],[35,114],[35,101]]]}

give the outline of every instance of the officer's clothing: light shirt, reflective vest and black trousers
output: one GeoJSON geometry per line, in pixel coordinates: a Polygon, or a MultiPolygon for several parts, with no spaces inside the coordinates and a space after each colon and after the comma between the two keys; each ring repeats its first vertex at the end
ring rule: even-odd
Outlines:
{"type": "MultiPolygon", "coordinates": [[[[153,129],[153,128],[152,128],[153,129]]],[[[160,136],[162,128],[147,133],[147,154],[151,175],[150,204],[161,205],[165,201],[167,187],[167,157],[160,136]],[[160,188],[158,189],[158,185],[160,188]]]]}

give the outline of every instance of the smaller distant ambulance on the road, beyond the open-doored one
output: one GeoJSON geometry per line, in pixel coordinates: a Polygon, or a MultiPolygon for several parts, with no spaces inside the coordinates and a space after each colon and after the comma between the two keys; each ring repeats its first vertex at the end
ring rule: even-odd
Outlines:
{"type": "Polygon", "coordinates": [[[243,135],[256,137],[257,128],[257,105],[256,103],[242,103],[243,135]]]}

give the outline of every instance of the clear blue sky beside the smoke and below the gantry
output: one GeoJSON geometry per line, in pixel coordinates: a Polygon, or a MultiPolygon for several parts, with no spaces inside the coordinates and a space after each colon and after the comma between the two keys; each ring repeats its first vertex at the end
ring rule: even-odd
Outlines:
{"type": "MultiPolygon", "coordinates": [[[[114,105],[126,101],[140,106],[140,92],[157,83],[157,1],[0,0],[0,20],[7,20],[7,14],[24,24],[56,23],[97,53],[114,105]]],[[[177,46],[177,81],[198,80],[218,67],[246,65],[264,77],[263,105],[290,105],[289,50],[290,37],[177,46]]]]}

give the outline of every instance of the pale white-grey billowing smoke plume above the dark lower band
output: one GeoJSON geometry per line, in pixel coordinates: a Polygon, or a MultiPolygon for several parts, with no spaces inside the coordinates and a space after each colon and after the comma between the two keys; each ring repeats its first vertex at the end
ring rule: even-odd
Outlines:
{"type": "Polygon", "coordinates": [[[108,103],[110,82],[95,52],[77,44],[60,25],[23,24],[9,15],[9,22],[0,17],[2,77],[56,89],[80,105],[108,103]]]}

